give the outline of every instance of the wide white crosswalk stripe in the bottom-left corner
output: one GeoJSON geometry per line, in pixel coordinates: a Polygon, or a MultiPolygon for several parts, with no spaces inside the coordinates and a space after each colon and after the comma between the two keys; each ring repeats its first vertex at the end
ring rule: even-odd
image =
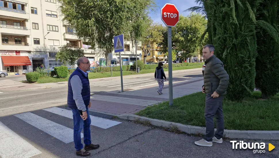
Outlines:
{"type": "Polygon", "coordinates": [[[0,157],[29,158],[42,152],[0,122],[0,157]]]}

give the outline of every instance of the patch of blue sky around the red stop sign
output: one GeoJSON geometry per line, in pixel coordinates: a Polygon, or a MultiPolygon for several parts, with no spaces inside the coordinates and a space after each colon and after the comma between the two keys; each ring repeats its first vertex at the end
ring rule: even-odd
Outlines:
{"type": "Polygon", "coordinates": [[[195,0],[156,0],[157,8],[156,11],[151,12],[149,16],[155,21],[163,24],[161,20],[161,8],[166,4],[171,3],[174,4],[175,7],[178,9],[180,15],[187,16],[190,14],[190,12],[184,12],[184,10],[193,7],[198,6],[198,4],[195,3],[195,0]]]}

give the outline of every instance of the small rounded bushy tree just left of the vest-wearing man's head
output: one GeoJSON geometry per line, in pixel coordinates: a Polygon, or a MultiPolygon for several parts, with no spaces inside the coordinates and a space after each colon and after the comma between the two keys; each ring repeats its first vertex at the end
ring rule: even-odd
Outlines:
{"type": "Polygon", "coordinates": [[[59,47],[59,51],[55,55],[56,61],[62,61],[63,65],[75,65],[80,57],[84,57],[83,49],[71,48],[67,45],[59,47]]]}

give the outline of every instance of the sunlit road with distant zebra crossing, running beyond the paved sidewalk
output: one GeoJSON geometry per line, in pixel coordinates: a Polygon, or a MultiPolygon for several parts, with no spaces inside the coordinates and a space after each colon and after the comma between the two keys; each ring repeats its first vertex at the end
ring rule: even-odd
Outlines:
{"type": "MultiPolygon", "coordinates": [[[[202,76],[201,71],[195,71],[190,73],[189,72],[173,73],[173,80],[175,82],[180,80],[186,80],[189,77],[192,78],[192,77],[200,77],[200,76],[202,76]]],[[[91,94],[104,93],[113,90],[121,90],[120,79],[115,82],[113,80],[110,80],[110,78],[102,78],[98,80],[98,82],[96,81],[95,83],[90,83],[91,94]]],[[[158,86],[157,81],[154,80],[153,74],[140,77],[140,78],[123,79],[123,85],[125,86],[124,88],[139,86],[139,84],[142,84],[141,88],[144,88],[144,85],[147,85],[149,83],[154,84],[154,86],[158,86]],[[142,84],[141,82],[143,81],[144,82],[146,81],[146,84],[144,83],[142,84]]],[[[49,104],[55,103],[56,105],[59,105],[58,103],[61,103],[60,105],[64,105],[66,104],[68,87],[61,86],[61,87],[53,87],[53,88],[45,88],[45,89],[37,89],[37,90],[18,90],[18,91],[1,91],[1,92],[3,93],[0,93],[0,103],[1,103],[0,110],[2,108],[24,107],[24,106],[29,106],[31,104],[34,106],[35,105],[40,106],[40,104],[45,104],[45,103],[49,103],[49,104]]]]}

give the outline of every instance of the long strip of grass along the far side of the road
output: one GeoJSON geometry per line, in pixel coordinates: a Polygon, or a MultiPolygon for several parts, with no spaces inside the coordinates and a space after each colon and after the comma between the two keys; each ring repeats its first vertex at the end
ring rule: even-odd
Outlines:
{"type": "MultiPolygon", "coordinates": [[[[181,67],[173,67],[173,71],[175,70],[187,70],[187,69],[195,69],[195,68],[202,68],[201,65],[193,65],[193,66],[181,66],[181,67]]],[[[164,69],[165,72],[168,71],[168,69],[164,69]]],[[[135,74],[147,74],[147,73],[155,73],[155,69],[147,69],[147,70],[140,70],[140,73],[136,73],[135,71],[122,71],[123,76],[126,75],[135,75],[135,74]]],[[[113,71],[112,77],[120,76],[120,71],[113,71]]],[[[111,77],[111,72],[96,72],[96,73],[89,73],[88,78],[94,79],[94,78],[105,78],[105,77],[111,77]]],[[[51,82],[63,82],[68,81],[68,78],[55,78],[55,77],[45,77],[45,78],[39,78],[37,83],[51,83],[51,82]]]]}

